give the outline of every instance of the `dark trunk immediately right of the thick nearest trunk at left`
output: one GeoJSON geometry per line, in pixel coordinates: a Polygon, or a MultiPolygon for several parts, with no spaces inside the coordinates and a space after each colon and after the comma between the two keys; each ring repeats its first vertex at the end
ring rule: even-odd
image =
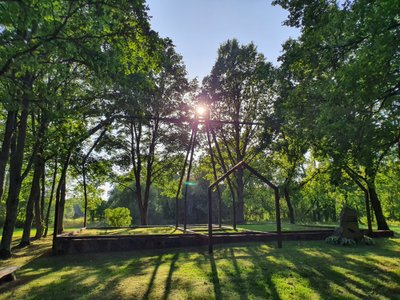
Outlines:
{"type": "MultiPolygon", "coordinates": [[[[24,223],[24,231],[22,233],[22,239],[20,242],[20,247],[24,247],[30,244],[32,220],[33,220],[33,208],[36,202],[40,199],[40,178],[42,177],[43,165],[40,162],[41,158],[36,155],[34,163],[34,172],[31,185],[31,191],[28,198],[28,203],[26,205],[26,215],[24,223]]],[[[36,211],[35,211],[36,214],[36,211]]]]}

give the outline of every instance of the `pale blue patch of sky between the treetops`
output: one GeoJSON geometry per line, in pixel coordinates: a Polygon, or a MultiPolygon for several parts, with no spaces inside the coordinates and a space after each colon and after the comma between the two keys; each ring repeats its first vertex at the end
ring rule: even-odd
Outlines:
{"type": "Polygon", "coordinates": [[[211,71],[221,43],[236,38],[254,42],[278,65],[281,45],[299,31],[282,25],[287,12],[270,0],[147,0],[153,30],[172,39],[190,79],[201,82],[211,71]]]}

